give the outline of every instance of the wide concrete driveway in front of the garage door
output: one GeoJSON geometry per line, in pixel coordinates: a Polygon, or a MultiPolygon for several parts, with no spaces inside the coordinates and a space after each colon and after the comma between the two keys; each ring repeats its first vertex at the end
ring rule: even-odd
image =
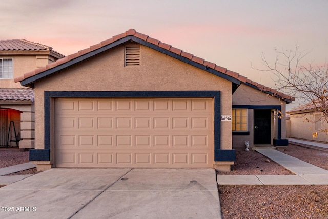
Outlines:
{"type": "Polygon", "coordinates": [[[221,218],[214,169],[54,168],[0,197],[0,218],[221,218]]]}

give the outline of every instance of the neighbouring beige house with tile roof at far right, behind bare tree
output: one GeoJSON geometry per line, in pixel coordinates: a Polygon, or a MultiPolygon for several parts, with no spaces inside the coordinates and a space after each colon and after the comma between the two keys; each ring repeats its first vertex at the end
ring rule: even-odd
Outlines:
{"type": "Polygon", "coordinates": [[[318,110],[321,106],[320,103],[308,103],[286,112],[290,115],[291,137],[328,142],[328,124],[318,110]]]}

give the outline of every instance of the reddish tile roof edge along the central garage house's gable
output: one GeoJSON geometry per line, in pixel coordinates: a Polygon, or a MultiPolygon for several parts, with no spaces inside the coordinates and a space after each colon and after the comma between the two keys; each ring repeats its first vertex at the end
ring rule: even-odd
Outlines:
{"type": "Polygon", "coordinates": [[[160,47],[161,49],[165,49],[167,51],[170,51],[170,52],[175,53],[177,55],[180,55],[182,57],[188,58],[188,59],[190,59],[190,61],[193,61],[193,62],[195,62],[197,64],[201,64],[204,67],[206,67],[206,69],[208,69],[208,68],[214,69],[214,70],[216,70],[218,72],[221,72],[223,74],[226,74],[228,76],[231,76],[231,77],[237,79],[241,83],[244,83],[246,85],[249,85],[251,87],[254,87],[254,88],[256,88],[258,90],[261,90],[263,92],[270,93],[270,94],[274,95],[275,97],[282,98],[282,99],[284,99],[284,100],[286,100],[288,102],[291,102],[291,101],[294,101],[295,100],[294,97],[291,97],[289,95],[283,94],[283,93],[281,93],[279,91],[276,91],[274,89],[265,87],[264,85],[260,85],[257,82],[253,82],[250,79],[248,79],[247,77],[244,77],[244,76],[240,75],[237,72],[233,72],[233,71],[230,71],[230,70],[228,70],[228,69],[226,69],[224,67],[217,66],[215,63],[208,62],[208,61],[204,60],[203,58],[199,58],[197,56],[194,56],[193,54],[184,52],[181,49],[177,49],[177,48],[172,47],[171,45],[162,43],[158,39],[154,39],[154,38],[149,37],[148,35],[145,35],[145,34],[136,32],[134,29],[129,29],[128,31],[126,31],[124,33],[115,35],[112,38],[107,39],[106,41],[100,42],[99,44],[90,46],[87,49],[81,50],[81,51],[79,51],[79,52],[77,52],[75,54],[71,54],[71,55],[69,55],[69,56],[67,56],[65,58],[61,58],[61,59],[57,60],[54,63],[48,64],[47,66],[45,66],[43,68],[38,68],[38,69],[35,69],[32,72],[25,73],[23,76],[20,76],[20,77],[15,78],[15,82],[23,81],[24,79],[27,79],[29,77],[32,77],[34,75],[37,75],[37,74],[42,73],[44,71],[47,71],[47,70],[49,70],[51,68],[55,68],[55,67],[57,67],[59,65],[62,65],[64,63],[67,63],[67,62],[71,61],[72,59],[75,59],[77,57],[80,57],[82,55],[85,55],[87,53],[90,53],[90,52],[95,51],[97,49],[100,49],[101,47],[105,47],[107,45],[110,45],[110,44],[118,41],[119,39],[125,38],[127,36],[137,37],[137,38],[141,39],[142,41],[145,41],[147,43],[153,44],[155,46],[160,47]]]}

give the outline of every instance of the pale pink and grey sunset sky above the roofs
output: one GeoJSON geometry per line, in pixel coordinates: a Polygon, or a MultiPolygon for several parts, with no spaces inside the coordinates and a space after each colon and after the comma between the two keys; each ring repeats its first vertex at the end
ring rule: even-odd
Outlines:
{"type": "Polygon", "coordinates": [[[0,38],[27,39],[69,55],[129,29],[274,88],[262,54],[294,50],[328,58],[326,0],[11,0],[0,7],[0,38]]]}

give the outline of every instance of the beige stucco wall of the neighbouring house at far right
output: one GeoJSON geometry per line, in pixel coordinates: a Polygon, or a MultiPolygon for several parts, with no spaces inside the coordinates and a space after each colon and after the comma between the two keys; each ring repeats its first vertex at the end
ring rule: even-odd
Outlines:
{"type": "MultiPolygon", "coordinates": [[[[305,140],[314,140],[320,142],[328,142],[328,135],[325,132],[321,132],[320,129],[316,129],[315,115],[318,113],[302,113],[291,115],[291,137],[302,138],[305,140]],[[317,132],[316,138],[313,138],[313,133],[317,132]]],[[[327,123],[321,121],[321,129],[328,129],[327,123]]]]}

